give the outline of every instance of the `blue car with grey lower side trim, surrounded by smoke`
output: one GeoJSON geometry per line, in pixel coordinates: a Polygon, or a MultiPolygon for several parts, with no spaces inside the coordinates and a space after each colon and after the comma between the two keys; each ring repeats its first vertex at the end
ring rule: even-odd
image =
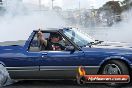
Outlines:
{"type": "Polygon", "coordinates": [[[132,47],[126,43],[94,40],[76,28],[50,28],[42,32],[45,39],[58,33],[61,36],[58,43],[65,49],[41,50],[38,30],[24,44],[9,42],[0,46],[0,64],[11,79],[76,79],[79,66],[84,66],[87,74],[131,72],[132,47]]]}

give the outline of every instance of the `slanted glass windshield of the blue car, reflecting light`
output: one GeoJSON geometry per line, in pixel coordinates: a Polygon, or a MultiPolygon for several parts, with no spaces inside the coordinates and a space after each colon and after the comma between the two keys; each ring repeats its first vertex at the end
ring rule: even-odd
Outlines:
{"type": "Polygon", "coordinates": [[[83,33],[82,31],[79,31],[79,29],[76,28],[67,29],[63,32],[70,40],[72,40],[79,47],[83,47],[90,44],[91,42],[95,42],[95,40],[92,39],[90,36],[86,35],[86,33],[83,33]]]}

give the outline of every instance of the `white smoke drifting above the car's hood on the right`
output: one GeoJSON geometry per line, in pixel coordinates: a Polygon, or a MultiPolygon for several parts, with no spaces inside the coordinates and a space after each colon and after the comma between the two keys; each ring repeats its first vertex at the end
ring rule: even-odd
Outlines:
{"type": "Polygon", "coordinates": [[[100,27],[88,30],[95,39],[132,43],[132,10],[122,13],[122,21],[112,27],[100,27]]]}

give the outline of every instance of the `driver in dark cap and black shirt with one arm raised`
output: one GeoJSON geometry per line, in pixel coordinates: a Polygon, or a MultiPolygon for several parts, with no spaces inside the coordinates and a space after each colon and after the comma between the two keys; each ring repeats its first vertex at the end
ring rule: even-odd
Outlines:
{"type": "Polygon", "coordinates": [[[50,33],[49,39],[45,39],[43,37],[43,33],[39,30],[37,34],[37,38],[38,38],[40,50],[60,51],[65,49],[64,46],[59,44],[59,42],[62,40],[62,37],[57,32],[50,33]]]}

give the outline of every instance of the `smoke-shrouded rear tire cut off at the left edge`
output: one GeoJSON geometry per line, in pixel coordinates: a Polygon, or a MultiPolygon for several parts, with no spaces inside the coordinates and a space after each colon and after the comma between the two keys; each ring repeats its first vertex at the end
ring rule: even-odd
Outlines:
{"type": "Polygon", "coordinates": [[[6,73],[5,67],[0,64],[0,87],[4,86],[8,80],[8,75],[6,73]]]}

